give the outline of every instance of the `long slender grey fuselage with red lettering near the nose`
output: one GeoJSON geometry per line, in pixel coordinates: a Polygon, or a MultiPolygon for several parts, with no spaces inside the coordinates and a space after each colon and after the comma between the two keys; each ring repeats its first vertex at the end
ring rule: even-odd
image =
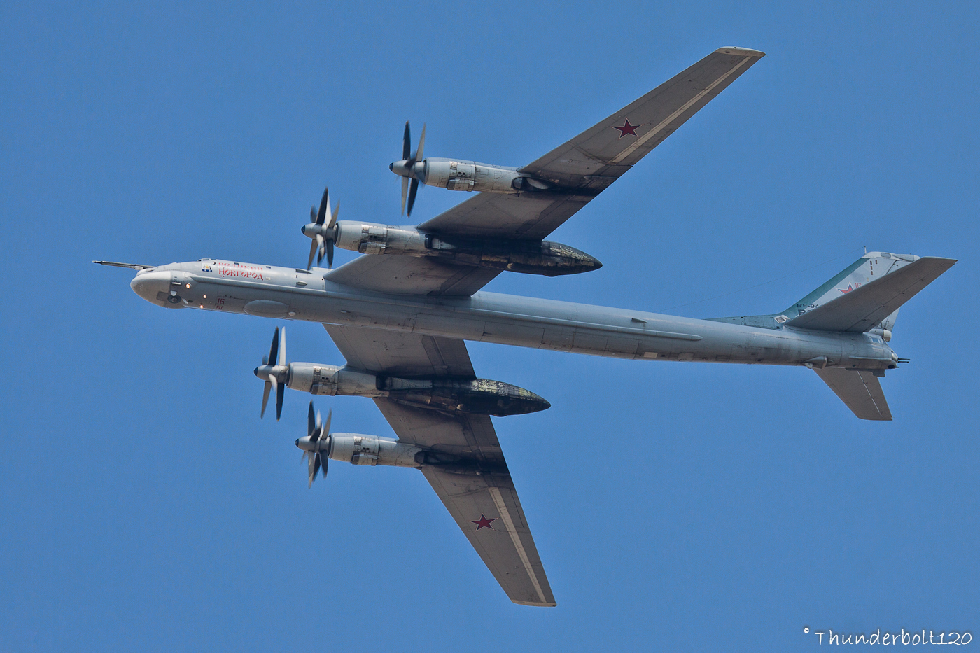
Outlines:
{"type": "Polygon", "coordinates": [[[130,283],[168,308],[361,326],[614,358],[883,370],[898,360],[869,333],[764,328],[549,299],[388,295],[324,278],[328,271],[203,260],[140,271],[130,283]],[[817,367],[821,367],[819,364],[817,367]]]}

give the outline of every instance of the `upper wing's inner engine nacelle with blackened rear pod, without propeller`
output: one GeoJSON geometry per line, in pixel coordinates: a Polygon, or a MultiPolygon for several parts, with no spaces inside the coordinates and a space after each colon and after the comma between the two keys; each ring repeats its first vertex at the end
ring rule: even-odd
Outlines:
{"type": "Polygon", "coordinates": [[[434,256],[463,265],[525,275],[577,275],[603,264],[585,252],[549,240],[488,240],[423,233],[414,226],[339,222],[336,244],[362,254],[434,256]]]}

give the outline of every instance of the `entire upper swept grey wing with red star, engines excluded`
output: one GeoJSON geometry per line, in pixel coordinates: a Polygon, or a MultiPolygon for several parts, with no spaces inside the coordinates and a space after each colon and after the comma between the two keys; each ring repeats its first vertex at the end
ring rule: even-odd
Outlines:
{"type": "MultiPolygon", "coordinates": [[[[657,147],[728,84],[763,57],[720,48],[519,172],[550,190],[479,193],[418,228],[473,238],[541,240],[657,147]]],[[[331,281],[381,292],[471,295],[499,271],[411,256],[362,256],[330,273],[331,281]]]]}

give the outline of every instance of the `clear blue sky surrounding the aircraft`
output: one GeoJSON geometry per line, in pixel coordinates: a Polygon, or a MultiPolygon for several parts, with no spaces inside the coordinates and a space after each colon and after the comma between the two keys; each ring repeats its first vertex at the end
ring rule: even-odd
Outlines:
{"type": "MultiPolygon", "coordinates": [[[[980,634],[980,12],[694,4],[0,4],[0,649],[980,634]],[[891,423],[803,368],[470,343],[552,402],[495,424],[557,608],[512,604],[416,471],[307,489],[310,397],[260,421],[252,376],[284,322],[165,311],[90,263],[302,266],[324,183],[341,219],[403,223],[406,120],[430,156],[519,166],[725,45],[767,56],[554,234],[605,267],[488,290],[715,317],[782,310],[864,246],[959,263],[899,317],[891,423]]],[[[464,199],[422,187],[412,222],[464,199]]],[[[291,360],[342,362],[287,331],[291,360]]],[[[317,405],[392,435],[366,399],[317,405]]]]}

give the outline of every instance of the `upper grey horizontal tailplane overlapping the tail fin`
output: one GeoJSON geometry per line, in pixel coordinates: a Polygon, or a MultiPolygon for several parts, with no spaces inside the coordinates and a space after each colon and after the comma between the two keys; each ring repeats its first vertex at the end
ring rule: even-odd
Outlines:
{"type": "MultiPolygon", "coordinates": [[[[818,331],[866,331],[895,313],[915,293],[952,268],[955,263],[955,259],[922,257],[895,272],[848,290],[840,297],[793,318],[786,326],[818,331]]],[[[841,398],[844,399],[843,396],[841,398]]]]}

